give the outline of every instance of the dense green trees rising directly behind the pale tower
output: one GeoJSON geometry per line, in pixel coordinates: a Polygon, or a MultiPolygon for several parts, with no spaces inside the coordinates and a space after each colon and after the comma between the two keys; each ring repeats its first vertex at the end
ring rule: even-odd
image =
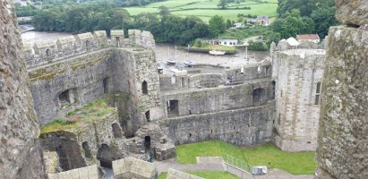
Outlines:
{"type": "Polygon", "coordinates": [[[303,33],[318,33],[324,38],[329,27],[338,24],[334,0],[278,0],[277,11],[272,29],[282,38],[303,33]]]}

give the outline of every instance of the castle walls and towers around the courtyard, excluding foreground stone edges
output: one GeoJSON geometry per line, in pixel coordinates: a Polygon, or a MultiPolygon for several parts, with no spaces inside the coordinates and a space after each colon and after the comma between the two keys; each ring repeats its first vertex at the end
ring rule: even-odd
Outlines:
{"type": "Polygon", "coordinates": [[[125,36],[95,31],[24,45],[39,123],[70,123],[41,131],[45,162],[57,161],[49,173],[111,167],[120,158],[165,160],[175,145],[209,140],[316,149],[323,45],[283,39],[258,63],[158,72],[150,32],[125,36]]]}

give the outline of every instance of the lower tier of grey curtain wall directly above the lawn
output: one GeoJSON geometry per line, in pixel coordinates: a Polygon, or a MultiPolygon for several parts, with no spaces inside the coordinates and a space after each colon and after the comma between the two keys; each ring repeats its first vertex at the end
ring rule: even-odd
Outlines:
{"type": "Polygon", "coordinates": [[[274,102],[263,106],[203,115],[186,115],[161,122],[175,145],[220,140],[250,146],[271,140],[274,102]]]}

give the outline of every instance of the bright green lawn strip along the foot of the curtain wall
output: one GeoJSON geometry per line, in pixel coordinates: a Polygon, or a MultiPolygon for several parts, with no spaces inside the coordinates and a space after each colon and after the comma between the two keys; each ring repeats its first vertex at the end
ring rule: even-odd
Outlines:
{"type": "Polygon", "coordinates": [[[238,148],[223,141],[203,141],[176,146],[176,158],[182,164],[194,164],[195,157],[226,157],[231,155],[252,166],[279,168],[294,175],[312,175],[316,167],[314,152],[287,152],[273,144],[238,148]]]}

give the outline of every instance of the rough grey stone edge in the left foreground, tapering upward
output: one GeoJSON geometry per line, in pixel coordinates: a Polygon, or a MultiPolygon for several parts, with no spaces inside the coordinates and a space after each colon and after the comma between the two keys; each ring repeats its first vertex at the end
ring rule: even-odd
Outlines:
{"type": "Polygon", "coordinates": [[[13,1],[0,4],[0,178],[46,178],[13,1]]]}

